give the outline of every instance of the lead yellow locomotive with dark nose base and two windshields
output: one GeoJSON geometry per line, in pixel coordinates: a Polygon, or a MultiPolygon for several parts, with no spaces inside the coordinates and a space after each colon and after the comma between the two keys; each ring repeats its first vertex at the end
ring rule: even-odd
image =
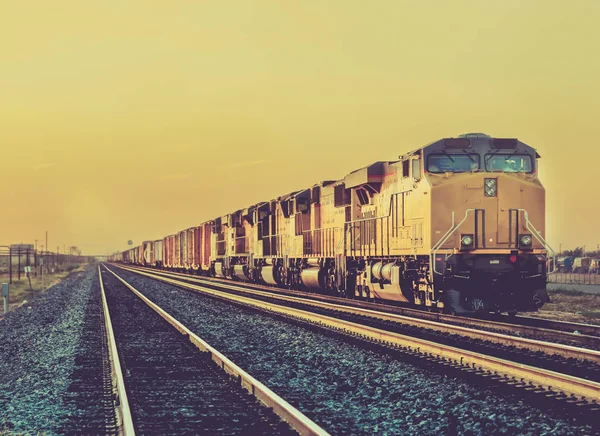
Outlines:
{"type": "Polygon", "coordinates": [[[381,248],[363,260],[356,248],[377,251],[364,243],[373,220],[356,214],[347,225],[360,241],[346,261],[350,286],[452,312],[537,310],[548,300],[554,254],[544,239],[539,157],[517,139],[467,134],[384,164],[372,196],[379,210],[390,205],[374,221],[381,248]]]}

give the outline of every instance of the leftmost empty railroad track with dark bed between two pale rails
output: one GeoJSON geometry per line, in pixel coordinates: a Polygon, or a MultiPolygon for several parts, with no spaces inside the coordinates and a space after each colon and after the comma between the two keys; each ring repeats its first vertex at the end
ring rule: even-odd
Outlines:
{"type": "Polygon", "coordinates": [[[113,271],[98,274],[118,416],[109,433],[327,434],[113,271]]]}

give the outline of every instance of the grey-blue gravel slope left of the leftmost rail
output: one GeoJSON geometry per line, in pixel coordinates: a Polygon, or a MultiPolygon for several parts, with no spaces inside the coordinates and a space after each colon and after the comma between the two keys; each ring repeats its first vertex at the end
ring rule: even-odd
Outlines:
{"type": "Polygon", "coordinates": [[[75,273],[0,320],[0,433],[56,434],[97,269],[75,273]]]}

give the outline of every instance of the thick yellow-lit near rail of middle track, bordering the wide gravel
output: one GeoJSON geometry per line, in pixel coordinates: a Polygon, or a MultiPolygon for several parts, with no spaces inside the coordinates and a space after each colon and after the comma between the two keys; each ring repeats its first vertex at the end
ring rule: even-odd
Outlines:
{"type": "Polygon", "coordinates": [[[555,394],[556,390],[558,390],[567,395],[579,397],[585,401],[600,403],[600,383],[597,382],[500,359],[497,357],[487,356],[485,354],[475,353],[412,336],[388,332],[327,315],[281,306],[275,303],[255,300],[250,297],[230,294],[223,291],[216,291],[203,286],[169,279],[167,277],[160,277],[156,275],[153,276],[152,274],[142,271],[134,272],[155,280],[163,281],[165,283],[170,283],[187,289],[192,289],[223,300],[228,300],[238,304],[241,303],[291,318],[305,320],[312,324],[326,328],[333,328],[355,336],[368,338],[369,340],[376,342],[383,342],[405,349],[410,349],[418,352],[420,355],[423,355],[423,357],[436,356],[445,361],[459,364],[471,371],[485,371],[491,376],[500,376],[513,380],[514,384],[520,384],[520,380],[521,382],[526,382],[523,384],[532,389],[541,387],[549,392],[552,392],[553,394],[555,394]]]}

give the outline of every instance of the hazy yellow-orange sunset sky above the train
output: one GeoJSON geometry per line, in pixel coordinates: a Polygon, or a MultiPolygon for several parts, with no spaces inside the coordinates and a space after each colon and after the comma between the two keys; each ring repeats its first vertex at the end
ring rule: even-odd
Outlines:
{"type": "Polygon", "coordinates": [[[124,249],[442,137],[600,244],[600,1],[0,0],[0,245],[124,249]]]}

